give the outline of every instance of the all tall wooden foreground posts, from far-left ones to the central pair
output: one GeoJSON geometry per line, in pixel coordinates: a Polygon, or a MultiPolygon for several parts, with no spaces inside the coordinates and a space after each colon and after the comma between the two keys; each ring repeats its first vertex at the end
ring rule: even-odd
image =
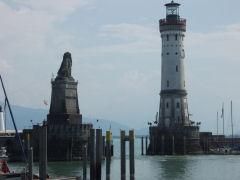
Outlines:
{"type": "MultiPolygon", "coordinates": [[[[129,141],[129,162],[130,180],[135,179],[135,159],[134,159],[134,130],[129,131],[126,136],[121,130],[121,180],[126,180],[126,141],[129,141]]],[[[29,135],[27,137],[29,141],[29,135]]],[[[90,157],[90,180],[101,180],[102,160],[106,157],[106,180],[110,180],[111,164],[111,131],[106,132],[105,138],[102,136],[102,129],[91,129],[89,139],[90,157]]],[[[83,149],[83,180],[87,180],[87,147],[83,149]]],[[[29,180],[33,180],[33,149],[28,143],[28,174],[29,180]]],[[[43,125],[39,131],[39,179],[46,180],[47,177],[47,126],[43,125]]],[[[81,179],[77,177],[76,179],[81,179]]]]}

